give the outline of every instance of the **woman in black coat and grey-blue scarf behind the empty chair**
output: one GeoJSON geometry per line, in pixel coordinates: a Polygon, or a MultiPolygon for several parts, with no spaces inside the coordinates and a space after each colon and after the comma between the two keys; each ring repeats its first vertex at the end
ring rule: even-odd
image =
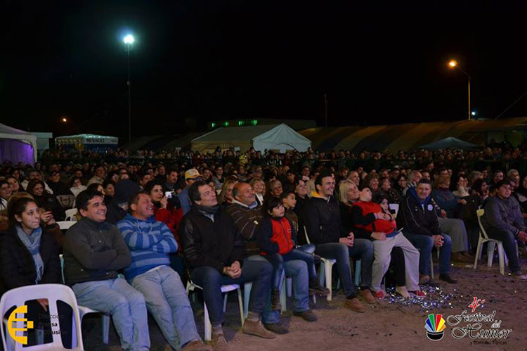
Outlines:
{"type": "MultiPolygon", "coordinates": [[[[53,236],[41,227],[37,203],[32,198],[19,198],[10,203],[8,213],[10,227],[0,234],[0,295],[21,286],[60,283],[58,247],[53,236]]],[[[69,313],[67,310],[67,305],[58,304],[65,345],[71,343],[71,309],[69,313]]],[[[27,319],[34,321],[34,328],[28,331],[28,345],[36,345],[39,328],[44,328],[44,343],[50,343],[46,298],[27,302],[27,319]]]]}

